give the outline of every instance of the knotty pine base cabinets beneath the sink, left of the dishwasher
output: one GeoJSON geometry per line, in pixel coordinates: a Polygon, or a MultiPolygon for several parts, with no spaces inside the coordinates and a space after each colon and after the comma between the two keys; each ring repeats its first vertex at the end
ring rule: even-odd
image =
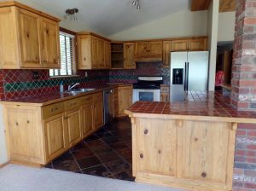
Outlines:
{"type": "Polygon", "coordinates": [[[46,165],[103,126],[102,91],[46,106],[3,103],[9,159],[46,165]]]}

